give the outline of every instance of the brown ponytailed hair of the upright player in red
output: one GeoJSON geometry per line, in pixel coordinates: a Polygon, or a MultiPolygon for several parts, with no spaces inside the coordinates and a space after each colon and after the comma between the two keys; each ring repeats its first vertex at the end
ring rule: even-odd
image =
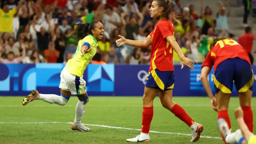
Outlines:
{"type": "Polygon", "coordinates": [[[172,6],[171,6],[171,1],[170,0],[154,0],[154,1],[158,2],[159,7],[163,7],[164,8],[164,11],[160,15],[160,18],[159,18],[160,20],[161,19],[169,20],[170,15],[172,15],[174,20],[176,22],[178,22],[176,16],[172,12],[172,6]]]}

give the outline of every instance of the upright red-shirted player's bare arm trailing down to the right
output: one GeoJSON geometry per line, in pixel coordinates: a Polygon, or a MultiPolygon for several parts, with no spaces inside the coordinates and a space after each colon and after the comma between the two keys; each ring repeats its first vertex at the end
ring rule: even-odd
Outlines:
{"type": "Polygon", "coordinates": [[[184,65],[188,66],[190,69],[194,69],[194,62],[184,56],[180,46],[178,45],[178,43],[176,42],[174,37],[168,36],[168,37],[166,37],[166,41],[171,44],[172,48],[175,50],[175,52],[180,57],[181,62],[182,62],[181,69],[183,68],[184,65]]]}

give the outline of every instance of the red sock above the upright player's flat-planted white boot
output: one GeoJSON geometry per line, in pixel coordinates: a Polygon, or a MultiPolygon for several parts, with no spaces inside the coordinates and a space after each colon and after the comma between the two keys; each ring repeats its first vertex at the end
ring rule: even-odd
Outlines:
{"type": "Polygon", "coordinates": [[[153,118],[153,107],[143,107],[142,111],[142,132],[149,133],[150,123],[153,118]]]}

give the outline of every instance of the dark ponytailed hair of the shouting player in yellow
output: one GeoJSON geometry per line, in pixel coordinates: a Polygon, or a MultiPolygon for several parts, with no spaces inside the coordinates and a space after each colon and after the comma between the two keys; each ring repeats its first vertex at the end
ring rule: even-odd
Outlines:
{"type": "MultiPolygon", "coordinates": [[[[91,30],[94,30],[94,26],[96,23],[98,23],[100,21],[97,21],[97,20],[94,20],[90,23],[85,23],[85,24],[75,24],[75,25],[78,25],[78,27],[75,29],[75,34],[76,34],[76,37],[78,39],[83,39],[84,37],[87,36],[87,32],[89,32],[90,34],[91,33],[91,30]]],[[[74,26],[75,25],[72,25],[72,28],[74,29],[74,26]]]]}

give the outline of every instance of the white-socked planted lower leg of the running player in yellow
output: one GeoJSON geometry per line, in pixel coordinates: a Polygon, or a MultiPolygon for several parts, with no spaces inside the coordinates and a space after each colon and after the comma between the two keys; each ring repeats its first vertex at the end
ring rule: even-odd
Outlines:
{"type": "Polygon", "coordinates": [[[74,126],[78,127],[81,125],[81,120],[84,117],[85,107],[87,102],[89,101],[89,97],[86,96],[85,98],[79,99],[78,103],[76,104],[76,114],[74,120],[74,126]]]}

